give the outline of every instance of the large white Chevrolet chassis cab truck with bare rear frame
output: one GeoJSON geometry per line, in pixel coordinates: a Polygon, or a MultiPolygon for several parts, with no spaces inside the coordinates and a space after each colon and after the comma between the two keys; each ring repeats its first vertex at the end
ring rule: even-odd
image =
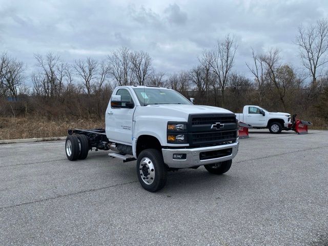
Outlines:
{"type": "Polygon", "coordinates": [[[167,171],[204,166],[227,172],[238,152],[238,122],[226,109],[193,105],[178,92],[153,86],[119,86],[106,110],[106,129],[68,131],[69,160],[88,151],[136,161],[141,186],[154,192],[165,186],[167,171]]]}

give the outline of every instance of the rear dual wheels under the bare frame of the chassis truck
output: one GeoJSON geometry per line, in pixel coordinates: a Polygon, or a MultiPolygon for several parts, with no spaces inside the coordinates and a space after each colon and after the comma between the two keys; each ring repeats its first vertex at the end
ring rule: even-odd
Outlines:
{"type": "Polygon", "coordinates": [[[68,135],[65,142],[66,156],[69,160],[87,158],[89,152],[89,140],[85,135],[68,135]]]}

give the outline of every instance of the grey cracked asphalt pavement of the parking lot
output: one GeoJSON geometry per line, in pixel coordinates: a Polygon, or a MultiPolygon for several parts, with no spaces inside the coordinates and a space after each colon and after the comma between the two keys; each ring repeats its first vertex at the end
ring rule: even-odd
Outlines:
{"type": "Polygon", "coordinates": [[[170,172],[157,193],[105,151],[0,145],[0,245],[328,245],[327,139],[251,130],[226,174],[170,172]]]}

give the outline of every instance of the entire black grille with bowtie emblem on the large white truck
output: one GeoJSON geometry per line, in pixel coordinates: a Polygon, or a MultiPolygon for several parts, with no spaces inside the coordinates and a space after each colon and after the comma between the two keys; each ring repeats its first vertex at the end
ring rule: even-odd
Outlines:
{"type": "Polygon", "coordinates": [[[231,113],[191,114],[189,116],[188,140],[190,146],[214,146],[224,142],[236,141],[237,131],[236,116],[231,113]],[[219,124],[217,125],[217,123],[219,124]]]}

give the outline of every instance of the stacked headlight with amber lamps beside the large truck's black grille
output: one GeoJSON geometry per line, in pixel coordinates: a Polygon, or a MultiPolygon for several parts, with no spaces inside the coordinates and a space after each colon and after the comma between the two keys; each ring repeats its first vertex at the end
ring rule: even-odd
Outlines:
{"type": "Polygon", "coordinates": [[[168,122],[167,141],[169,144],[187,144],[187,123],[168,122]]]}

